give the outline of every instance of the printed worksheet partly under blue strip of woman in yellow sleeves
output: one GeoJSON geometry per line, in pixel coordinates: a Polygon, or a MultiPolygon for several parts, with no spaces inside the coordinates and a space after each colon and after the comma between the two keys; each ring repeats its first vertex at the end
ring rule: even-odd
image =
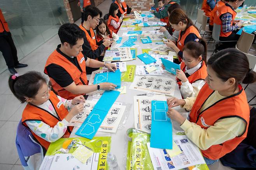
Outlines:
{"type": "Polygon", "coordinates": [[[151,133],[151,101],[166,101],[165,95],[153,97],[142,95],[133,97],[134,102],[134,126],[135,129],[151,133]]]}

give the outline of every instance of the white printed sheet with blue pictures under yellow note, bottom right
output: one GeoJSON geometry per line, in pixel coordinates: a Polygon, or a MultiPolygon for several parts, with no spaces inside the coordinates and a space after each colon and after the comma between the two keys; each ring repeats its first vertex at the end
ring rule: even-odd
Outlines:
{"type": "Polygon", "coordinates": [[[173,139],[183,152],[172,158],[165,149],[153,148],[150,147],[150,142],[147,143],[154,169],[178,170],[193,165],[205,164],[199,148],[186,135],[173,135],[173,139]]]}

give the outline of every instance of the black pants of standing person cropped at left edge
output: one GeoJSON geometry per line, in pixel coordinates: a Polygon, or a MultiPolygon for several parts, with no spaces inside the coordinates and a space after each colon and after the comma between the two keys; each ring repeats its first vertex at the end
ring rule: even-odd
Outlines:
{"type": "Polygon", "coordinates": [[[14,68],[14,66],[19,64],[17,49],[10,32],[7,32],[7,35],[0,36],[0,51],[4,56],[8,68],[14,68]]]}

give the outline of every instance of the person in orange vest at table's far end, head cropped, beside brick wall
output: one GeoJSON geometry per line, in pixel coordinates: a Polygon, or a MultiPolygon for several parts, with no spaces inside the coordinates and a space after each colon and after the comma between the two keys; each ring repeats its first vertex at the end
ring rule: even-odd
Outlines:
{"type": "Polygon", "coordinates": [[[130,8],[125,2],[124,0],[116,0],[115,3],[118,5],[118,13],[116,14],[119,18],[122,16],[123,14],[123,19],[126,18],[130,18],[130,19],[134,19],[135,17],[133,15],[127,15],[127,14],[132,14],[133,11],[137,11],[139,12],[139,10],[137,9],[132,9],[130,8]]]}

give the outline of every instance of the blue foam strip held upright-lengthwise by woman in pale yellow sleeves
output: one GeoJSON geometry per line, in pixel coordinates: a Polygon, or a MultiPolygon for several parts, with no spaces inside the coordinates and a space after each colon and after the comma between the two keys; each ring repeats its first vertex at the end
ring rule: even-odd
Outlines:
{"type": "Polygon", "coordinates": [[[172,122],[167,116],[166,101],[152,101],[150,147],[172,149],[172,122]]]}

